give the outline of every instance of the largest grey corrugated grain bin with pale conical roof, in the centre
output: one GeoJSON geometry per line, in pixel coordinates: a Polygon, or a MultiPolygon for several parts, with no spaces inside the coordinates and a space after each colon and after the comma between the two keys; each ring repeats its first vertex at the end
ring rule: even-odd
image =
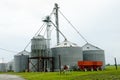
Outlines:
{"type": "Polygon", "coordinates": [[[67,40],[52,48],[52,55],[55,71],[59,71],[59,55],[61,56],[61,67],[68,65],[70,69],[76,67],[77,61],[83,60],[82,48],[67,40]]]}

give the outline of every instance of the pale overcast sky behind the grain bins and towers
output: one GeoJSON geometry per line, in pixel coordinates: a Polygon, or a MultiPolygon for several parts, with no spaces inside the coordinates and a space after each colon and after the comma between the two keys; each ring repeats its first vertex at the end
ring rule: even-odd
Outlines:
{"type": "MultiPolygon", "coordinates": [[[[0,48],[24,50],[54,3],[89,43],[105,50],[106,63],[113,64],[116,57],[120,64],[120,0],[0,0],[0,48]]],[[[62,16],[59,18],[60,29],[68,40],[83,46],[83,39],[62,16]]],[[[53,46],[55,37],[53,30],[53,46]]],[[[4,58],[8,62],[15,54],[0,50],[0,61],[4,58]]]]}

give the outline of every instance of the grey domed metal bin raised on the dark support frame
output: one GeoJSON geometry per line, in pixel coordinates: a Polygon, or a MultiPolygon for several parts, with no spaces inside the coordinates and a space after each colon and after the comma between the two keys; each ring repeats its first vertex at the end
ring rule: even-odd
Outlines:
{"type": "Polygon", "coordinates": [[[46,56],[46,39],[41,36],[35,36],[31,39],[31,57],[46,56]]]}

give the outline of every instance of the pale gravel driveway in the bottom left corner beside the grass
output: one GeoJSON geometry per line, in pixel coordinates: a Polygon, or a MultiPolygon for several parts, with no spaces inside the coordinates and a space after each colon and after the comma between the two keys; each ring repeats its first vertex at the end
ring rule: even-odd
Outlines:
{"type": "Polygon", "coordinates": [[[16,75],[0,74],[0,80],[25,80],[16,75]]]}

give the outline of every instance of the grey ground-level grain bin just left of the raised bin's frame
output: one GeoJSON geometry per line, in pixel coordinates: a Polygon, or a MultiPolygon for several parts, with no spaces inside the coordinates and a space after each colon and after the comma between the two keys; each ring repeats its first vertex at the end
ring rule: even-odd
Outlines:
{"type": "Polygon", "coordinates": [[[15,72],[23,72],[28,69],[29,52],[22,51],[14,56],[15,72]]]}

